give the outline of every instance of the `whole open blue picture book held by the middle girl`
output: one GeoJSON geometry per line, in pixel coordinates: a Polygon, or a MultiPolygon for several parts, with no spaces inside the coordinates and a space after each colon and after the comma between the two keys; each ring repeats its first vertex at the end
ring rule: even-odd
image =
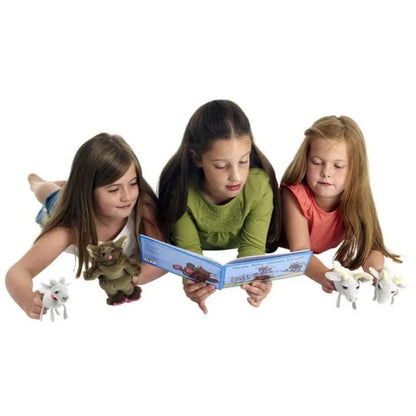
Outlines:
{"type": "Polygon", "coordinates": [[[253,280],[272,280],[305,273],[312,251],[243,257],[221,264],[208,257],[140,234],[142,261],[195,282],[217,289],[239,286],[253,280]]]}

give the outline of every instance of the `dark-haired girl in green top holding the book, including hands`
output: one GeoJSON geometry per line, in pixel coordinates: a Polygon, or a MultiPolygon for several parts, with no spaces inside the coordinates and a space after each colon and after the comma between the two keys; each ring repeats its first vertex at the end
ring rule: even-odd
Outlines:
{"type": "MultiPolygon", "coordinates": [[[[178,151],[162,171],[158,218],[168,241],[202,250],[238,249],[238,257],[277,249],[280,201],[276,176],[253,142],[241,108],[227,100],[200,107],[191,117],[178,151]]],[[[271,282],[243,285],[259,306],[271,282]]],[[[207,313],[215,288],[184,282],[186,295],[207,313]]]]}

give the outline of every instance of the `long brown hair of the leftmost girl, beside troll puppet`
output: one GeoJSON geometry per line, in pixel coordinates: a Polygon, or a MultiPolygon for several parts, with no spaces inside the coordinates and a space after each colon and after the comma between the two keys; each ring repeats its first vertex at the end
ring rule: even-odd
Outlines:
{"type": "Polygon", "coordinates": [[[39,239],[55,227],[74,227],[77,231],[78,270],[88,267],[88,244],[98,244],[94,220],[94,189],[106,186],[122,177],[134,164],[139,186],[139,198],[134,207],[135,235],[141,230],[143,205],[156,201],[151,187],[142,176],[139,161],[123,138],[101,133],[86,141],[75,154],[68,181],[59,193],[51,218],[45,223],[39,239]]]}

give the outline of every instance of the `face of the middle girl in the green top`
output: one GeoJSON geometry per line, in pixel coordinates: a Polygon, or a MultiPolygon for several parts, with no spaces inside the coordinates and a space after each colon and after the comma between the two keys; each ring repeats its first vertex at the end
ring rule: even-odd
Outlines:
{"type": "Polygon", "coordinates": [[[243,189],[250,169],[251,139],[243,136],[217,139],[195,164],[204,171],[204,195],[214,204],[235,198],[243,189]]]}

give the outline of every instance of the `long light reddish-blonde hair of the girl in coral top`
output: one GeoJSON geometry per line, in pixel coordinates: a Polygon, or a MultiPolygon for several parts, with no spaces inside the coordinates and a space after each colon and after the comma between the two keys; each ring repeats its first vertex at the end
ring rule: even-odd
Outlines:
{"type": "Polygon", "coordinates": [[[363,265],[371,250],[378,250],[395,262],[397,254],[388,251],[371,193],[368,158],[363,133],[357,123],[346,116],[328,116],[317,120],[305,131],[305,138],[281,182],[287,185],[306,184],[309,149],[314,139],[345,140],[348,154],[348,177],[341,196],[340,212],[345,226],[345,239],[335,254],[344,267],[363,265]]]}

